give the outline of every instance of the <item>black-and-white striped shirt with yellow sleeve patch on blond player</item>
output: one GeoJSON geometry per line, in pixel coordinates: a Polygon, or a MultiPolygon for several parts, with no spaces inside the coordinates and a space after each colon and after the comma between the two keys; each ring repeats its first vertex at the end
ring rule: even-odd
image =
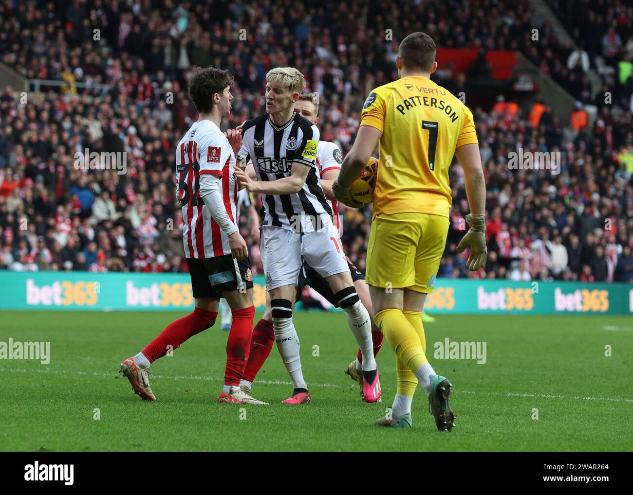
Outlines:
{"type": "Polygon", "coordinates": [[[288,177],[293,161],[310,167],[298,193],[263,194],[262,225],[311,232],[332,225],[332,209],[325,199],[316,168],[319,131],[308,119],[292,114],[287,123],[275,126],[268,114],[242,124],[242,147],[237,154],[242,163],[253,162],[260,181],[288,177]]]}

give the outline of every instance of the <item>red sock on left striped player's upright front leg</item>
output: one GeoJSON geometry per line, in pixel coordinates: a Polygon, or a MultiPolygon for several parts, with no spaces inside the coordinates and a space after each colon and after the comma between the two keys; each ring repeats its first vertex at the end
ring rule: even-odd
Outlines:
{"type": "Polygon", "coordinates": [[[227,341],[227,367],[224,372],[225,385],[239,386],[251,348],[254,315],[254,306],[233,312],[233,322],[229,332],[229,341],[227,341]]]}

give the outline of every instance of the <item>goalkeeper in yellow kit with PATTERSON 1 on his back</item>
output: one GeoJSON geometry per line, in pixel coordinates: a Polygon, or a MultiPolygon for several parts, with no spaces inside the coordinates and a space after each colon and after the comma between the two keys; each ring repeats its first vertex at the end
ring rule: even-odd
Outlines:
{"type": "Polygon", "coordinates": [[[374,321],[396,353],[398,391],[391,413],[376,424],[411,427],[411,400],[419,381],[437,429],[444,431],[454,426],[448,404],[452,385],[434,372],[425,355],[422,309],[446,244],[453,155],[463,167],[470,205],[470,229],[457,250],[470,246],[471,271],[486,264],[486,185],[472,113],[430,80],[437,68],[435,56],[429,35],[417,32],[403,40],[396,57],[400,78],[368,95],[358,136],[332,192],[348,206],[362,206],[349,186],[379,144],[367,283],[374,321]]]}

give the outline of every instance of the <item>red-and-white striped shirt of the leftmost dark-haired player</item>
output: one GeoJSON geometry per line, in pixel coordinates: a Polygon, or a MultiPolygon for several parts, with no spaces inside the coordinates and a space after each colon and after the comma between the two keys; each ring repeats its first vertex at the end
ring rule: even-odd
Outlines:
{"type": "Polygon", "coordinates": [[[187,258],[231,254],[229,238],[200,197],[200,175],[222,178],[220,193],[229,218],[237,223],[235,154],[229,140],[210,120],[194,123],[176,149],[177,198],[182,209],[182,243],[187,258]]]}

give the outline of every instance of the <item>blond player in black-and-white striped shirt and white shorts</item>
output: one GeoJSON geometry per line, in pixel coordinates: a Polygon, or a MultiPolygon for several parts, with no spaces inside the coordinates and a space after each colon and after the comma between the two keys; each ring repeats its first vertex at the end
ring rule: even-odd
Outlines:
{"type": "Polygon", "coordinates": [[[246,189],[262,194],[261,260],[275,341],[294,386],[284,403],[310,401],[301,372],[299,339],[292,324],[302,257],[325,278],[346,313],[363,353],[364,393],[370,398],[378,396],[380,390],[371,319],[354,288],[316,169],[318,129],[294,112],[304,88],[303,74],[295,68],[276,68],[266,74],[266,114],[242,124],[238,154],[244,167],[249,160],[253,162],[258,180],[251,180],[241,168],[235,173],[246,189]]]}

